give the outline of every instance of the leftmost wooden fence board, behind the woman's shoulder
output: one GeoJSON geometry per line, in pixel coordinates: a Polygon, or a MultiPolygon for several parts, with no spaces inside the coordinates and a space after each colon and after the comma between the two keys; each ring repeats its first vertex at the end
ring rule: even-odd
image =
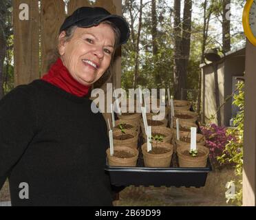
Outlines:
{"type": "Polygon", "coordinates": [[[34,0],[14,0],[14,87],[28,84],[39,78],[39,3],[34,0]],[[25,13],[21,4],[28,5],[28,20],[21,20],[25,13]],[[21,9],[19,7],[21,6],[21,9]]]}

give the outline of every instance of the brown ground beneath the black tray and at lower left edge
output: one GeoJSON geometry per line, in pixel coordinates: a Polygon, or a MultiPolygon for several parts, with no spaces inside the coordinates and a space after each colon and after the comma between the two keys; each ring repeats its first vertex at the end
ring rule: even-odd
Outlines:
{"type": "MultiPolygon", "coordinates": [[[[225,186],[234,178],[233,168],[222,168],[211,171],[201,188],[129,186],[120,192],[114,206],[230,206],[225,186]]],[[[10,201],[8,182],[0,191],[0,201],[10,201]]]]}

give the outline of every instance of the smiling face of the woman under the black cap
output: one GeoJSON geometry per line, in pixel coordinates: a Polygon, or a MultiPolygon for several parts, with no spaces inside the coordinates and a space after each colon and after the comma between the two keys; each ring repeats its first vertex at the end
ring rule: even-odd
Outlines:
{"type": "MultiPolygon", "coordinates": [[[[65,32],[61,32],[59,40],[65,32]]],[[[61,41],[60,41],[61,42],[61,41]]],[[[70,41],[60,43],[59,53],[72,77],[82,85],[92,85],[110,65],[115,34],[110,25],[76,28],[70,41]]]]}

